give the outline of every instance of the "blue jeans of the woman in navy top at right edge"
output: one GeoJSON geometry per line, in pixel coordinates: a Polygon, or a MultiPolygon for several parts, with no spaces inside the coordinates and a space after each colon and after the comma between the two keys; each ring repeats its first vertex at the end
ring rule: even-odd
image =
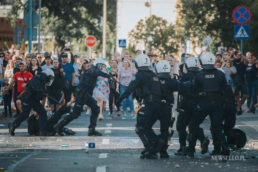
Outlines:
{"type": "Polygon", "coordinates": [[[247,88],[247,107],[250,108],[251,97],[253,97],[253,105],[257,103],[257,87],[258,87],[258,80],[255,81],[246,81],[246,88],[247,88]]]}

